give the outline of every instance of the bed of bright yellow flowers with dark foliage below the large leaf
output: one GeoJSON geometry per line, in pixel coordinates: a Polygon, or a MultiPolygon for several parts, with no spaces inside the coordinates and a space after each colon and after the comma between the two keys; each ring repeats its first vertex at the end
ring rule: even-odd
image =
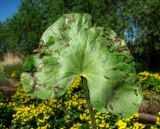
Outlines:
{"type": "MultiPolygon", "coordinates": [[[[147,79],[150,77],[159,79],[159,75],[158,77],[157,75],[158,74],[143,72],[139,73],[138,77],[144,86],[147,79]]],[[[0,122],[3,120],[3,124],[0,124],[0,128],[7,128],[6,125],[8,124],[8,120],[10,120],[10,127],[13,129],[91,128],[90,114],[87,109],[86,99],[80,81],[81,78],[78,76],[63,97],[49,100],[40,100],[29,96],[20,86],[16,94],[12,96],[11,102],[0,102],[0,122]]],[[[146,128],[144,124],[138,122],[137,113],[128,118],[121,118],[109,112],[101,113],[95,109],[94,112],[98,129],[146,128]]],[[[158,129],[159,127],[160,113],[156,125],[153,125],[150,128],[158,129]]]]}

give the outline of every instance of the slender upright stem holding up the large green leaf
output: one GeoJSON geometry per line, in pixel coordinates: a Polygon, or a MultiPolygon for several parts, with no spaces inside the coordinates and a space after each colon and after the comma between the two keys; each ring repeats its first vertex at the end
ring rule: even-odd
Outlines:
{"type": "Polygon", "coordinates": [[[96,121],[95,121],[95,117],[94,117],[95,113],[94,113],[94,110],[93,110],[93,107],[92,107],[91,101],[90,101],[90,95],[89,95],[87,80],[86,80],[85,77],[81,77],[81,80],[82,80],[82,86],[83,86],[83,89],[84,89],[84,95],[85,95],[85,98],[87,100],[87,106],[88,106],[88,109],[89,109],[89,114],[90,114],[90,117],[91,117],[92,129],[97,129],[96,128],[96,121]]]}

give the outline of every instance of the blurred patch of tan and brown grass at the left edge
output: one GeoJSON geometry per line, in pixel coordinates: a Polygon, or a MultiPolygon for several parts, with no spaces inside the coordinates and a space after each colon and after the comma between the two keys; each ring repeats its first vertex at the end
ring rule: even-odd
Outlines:
{"type": "Polygon", "coordinates": [[[17,89],[16,81],[22,72],[22,59],[20,56],[7,52],[0,61],[0,91],[7,96],[17,89]]]}

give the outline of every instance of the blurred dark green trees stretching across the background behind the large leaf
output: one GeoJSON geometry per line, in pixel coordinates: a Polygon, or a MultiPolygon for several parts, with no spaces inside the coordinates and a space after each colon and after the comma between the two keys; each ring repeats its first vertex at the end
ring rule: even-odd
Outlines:
{"type": "Polygon", "coordinates": [[[0,52],[30,53],[44,30],[64,13],[89,13],[96,25],[125,38],[143,68],[160,66],[159,0],[23,0],[19,11],[0,25],[0,52]]]}

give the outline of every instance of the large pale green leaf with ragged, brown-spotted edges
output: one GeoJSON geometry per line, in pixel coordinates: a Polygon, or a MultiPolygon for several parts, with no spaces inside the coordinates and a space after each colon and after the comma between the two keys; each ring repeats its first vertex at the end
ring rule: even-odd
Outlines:
{"type": "Polygon", "coordinates": [[[142,96],[126,43],[112,30],[93,26],[89,14],[63,15],[44,32],[38,50],[32,70],[21,76],[26,91],[33,87],[31,95],[58,98],[83,76],[99,111],[128,116],[138,110],[142,96]]]}

